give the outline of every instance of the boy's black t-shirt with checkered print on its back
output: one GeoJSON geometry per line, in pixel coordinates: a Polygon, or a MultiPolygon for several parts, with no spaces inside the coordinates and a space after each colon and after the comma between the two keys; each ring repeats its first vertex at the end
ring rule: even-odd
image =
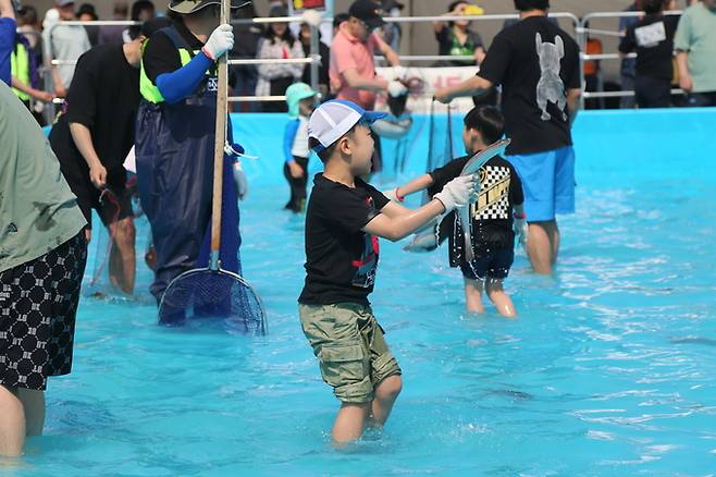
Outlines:
{"type": "MultiPolygon", "coordinates": [[[[433,185],[428,194],[433,196],[443,189],[445,184],[460,175],[462,168],[471,156],[454,159],[440,169],[430,173],[433,185]]],[[[513,232],[513,207],[522,205],[524,196],[522,182],[513,164],[501,157],[490,159],[479,171],[480,196],[471,206],[472,215],[472,248],[474,255],[480,257],[487,249],[514,247],[515,233],[513,232]]],[[[462,230],[450,213],[444,221],[449,227],[441,227],[441,233],[448,231],[449,259],[452,267],[458,267],[464,257],[462,230]]]]}

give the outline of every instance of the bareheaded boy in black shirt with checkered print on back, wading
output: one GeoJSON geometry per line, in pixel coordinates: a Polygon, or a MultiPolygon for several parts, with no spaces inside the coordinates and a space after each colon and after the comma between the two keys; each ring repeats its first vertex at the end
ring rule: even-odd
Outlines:
{"type": "MultiPolygon", "coordinates": [[[[396,187],[392,195],[398,201],[418,191],[428,189],[432,196],[444,184],[460,174],[470,158],[499,140],[504,133],[502,113],[493,107],[480,106],[465,117],[462,143],[468,156],[455,159],[446,166],[421,175],[405,186],[396,187]]],[[[515,259],[515,235],[527,237],[527,222],[522,203],[522,183],[513,166],[501,157],[490,159],[479,171],[480,196],[471,206],[472,250],[474,260],[465,259],[462,230],[453,217],[448,221],[450,267],[460,267],[465,279],[465,298],[470,313],[483,313],[482,289],[490,301],[506,316],[517,315],[515,305],[503,289],[515,259]],[[515,219],[513,221],[513,219],[515,219]]],[[[441,230],[445,230],[441,227],[441,230]]]]}

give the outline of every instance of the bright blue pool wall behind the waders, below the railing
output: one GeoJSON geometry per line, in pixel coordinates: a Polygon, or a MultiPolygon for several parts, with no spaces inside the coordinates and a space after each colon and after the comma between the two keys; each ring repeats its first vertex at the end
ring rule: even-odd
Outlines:
{"type": "MultiPolygon", "coordinates": [[[[283,133],[288,118],[276,113],[234,113],[234,137],[247,154],[250,185],[274,185],[283,179],[283,133]]],[[[408,148],[404,172],[396,174],[396,140],[383,139],[384,174],[379,181],[402,180],[425,171],[428,115],[415,115],[405,144],[408,148]],[[397,175],[397,176],[396,176],[397,175]]],[[[434,120],[434,136],[445,137],[444,115],[434,120]]],[[[462,115],[453,117],[455,154],[461,155],[462,115]]],[[[716,180],[716,108],[581,111],[575,122],[577,182],[580,184],[624,184],[633,179],[716,180]]],[[[441,146],[444,149],[444,146],[441,146]]],[[[317,157],[311,171],[321,169],[317,157]]]]}

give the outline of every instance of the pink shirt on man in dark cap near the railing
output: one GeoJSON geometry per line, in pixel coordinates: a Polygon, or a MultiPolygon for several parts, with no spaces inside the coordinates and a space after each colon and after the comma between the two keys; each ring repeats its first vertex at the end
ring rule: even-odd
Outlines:
{"type": "Polygon", "coordinates": [[[331,90],[336,99],[347,99],[356,102],[363,109],[372,109],[375,103],[375,93],[367,89],[354,89],[347,86],[343,72],[354,69],[361,77],[373,80],[375,77],[375,63],[373,54],[380,48],[381,39],[373,33],[366,41],[361,41],[348,32],[348,24],[344,22],[331,44],[331,90]]]}

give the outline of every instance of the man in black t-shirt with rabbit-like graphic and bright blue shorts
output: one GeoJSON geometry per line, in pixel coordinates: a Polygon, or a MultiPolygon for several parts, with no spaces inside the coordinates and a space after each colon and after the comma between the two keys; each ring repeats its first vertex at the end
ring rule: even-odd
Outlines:
{"type": "Polygon", "coordinates": [[[522,180],[529,221],[528,256],[552,273],[559,250],[556,213],[575,211],[571,123],[581,95],[579,46],[547,19],[548,0],[515,0],[521,20],[492,41],[477,76],[442,88],[449,102],[503,86],[507,160],[522,180]]]}

